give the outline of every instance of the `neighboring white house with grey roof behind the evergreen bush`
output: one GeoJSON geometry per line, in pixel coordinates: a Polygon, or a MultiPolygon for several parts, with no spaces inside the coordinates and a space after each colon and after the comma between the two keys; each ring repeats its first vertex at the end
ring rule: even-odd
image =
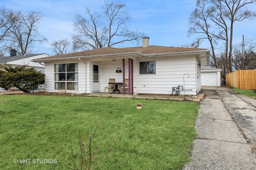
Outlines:
{"type": "MultiPolygon", "coordinates": [[[[27,65],[29,67],[34,67],[36,70],[44,73],[44,64],[32,62],[32,59],[38,59],[42,57],[49,57],[48,54],[28,54],[28,55],[17,55],[16,50],[10,50],[9,57],[0,57],[0,70],[4,70],[5,67],[16,67],[27,65]]],[[[0,91],[4,91],[0,88],[0,91]]]]}

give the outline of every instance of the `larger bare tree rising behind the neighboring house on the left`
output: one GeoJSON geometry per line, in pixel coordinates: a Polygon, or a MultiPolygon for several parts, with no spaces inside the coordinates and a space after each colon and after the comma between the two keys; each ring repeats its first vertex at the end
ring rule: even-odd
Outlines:
{"type": "Polygon", "coordinates": [[[41,12],[37,11],[28,11],[24,14],[19,11],[16,15],[19,18],[10,28],[9,45],[15,48],[20,55],[31,53],[35,42],[47,41],[39,34],[37,27],[43,16],[41,12]]]}

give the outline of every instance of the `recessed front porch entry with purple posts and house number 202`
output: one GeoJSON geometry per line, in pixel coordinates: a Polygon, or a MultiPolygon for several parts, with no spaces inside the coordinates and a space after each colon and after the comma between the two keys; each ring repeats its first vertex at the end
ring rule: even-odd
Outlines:
{"type": "MultiPolygon", "coordinates": [[[[114,79],[114,89],[118,87],[121,94],[134,94],[134,63],[133,59],[113,59],[92,62],[92,94],[105,92],[105,87],[109,86],[109,80],[114,79]],[[126,80],[128,80],[126,82],[126,80]],[[98,87],[98,88],[97,88],[98,87]],[[125,88],[126,87],[126,88],[125,88]]],[[[138,68],[136,68],[138,69],[138,68]]],[[[113,89],[111,89],[111,92],[113,89]]],[[[108,89],[106,90],[106,93],[108,89]]]]}

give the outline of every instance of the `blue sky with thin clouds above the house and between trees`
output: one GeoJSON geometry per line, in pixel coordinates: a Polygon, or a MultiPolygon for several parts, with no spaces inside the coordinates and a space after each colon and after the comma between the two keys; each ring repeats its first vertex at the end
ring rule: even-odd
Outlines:
{"type": "MultiPolygon", "coordinates": [[[[115,2],[120,2],[114,0],[115,2]]],[[[140,30],[150,37],[149,45],[174,46],[192,43],[195,36],[188,37],[188,18],[195,9],[196,0],[123,0],[131,20],[128,28],[140,30]]],[[[104,0],[0,0],[1,6],[12,10],[37,10],[42,12],[39,32],[48,39],[48,43],[35,45],[35,53],[53,55],[51,43],[61,39],[72,42],[71,36],[75,14],[83,14],[85,7],[98,11],[104,0]]],[[[255,10],[254,5],[254,10],[255,10]]],[[[252,37],[256,20],[246,20],[235,25],[234,43],[242,42],[242,35],[252,37]]],[[[142,45],[140,43],[139,45],[142,45]]],[[[134,47],[136,43],[126,44],[134,47]]],[[[200,48],[209,49],[207,42],[200,48]]]]}

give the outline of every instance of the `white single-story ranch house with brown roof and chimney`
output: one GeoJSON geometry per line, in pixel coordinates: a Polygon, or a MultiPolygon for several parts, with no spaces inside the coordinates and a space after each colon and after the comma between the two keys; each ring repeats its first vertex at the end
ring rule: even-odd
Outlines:
{"type": "Polygon", "coordinates": [[[198,94],[200,66],[208,65],[209,51],[149,46],[148,40],[143,37],[142,47],[106,47],[32,61],[45,64],[48,92],[104,92],[110,78],[115,82],[129,78],[129,94],[173,94],[172,87],[178,86],[183,86],[180,94],[198,94]]]}

